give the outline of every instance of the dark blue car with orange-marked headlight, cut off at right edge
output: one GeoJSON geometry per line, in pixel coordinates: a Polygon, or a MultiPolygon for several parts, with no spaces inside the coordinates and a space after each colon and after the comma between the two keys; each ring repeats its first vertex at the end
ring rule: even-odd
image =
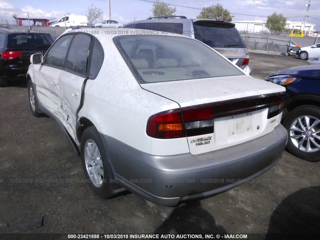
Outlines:
{"type": "Polygon", "coordinates": [[[265,80],[286,88],[282,124],[287,150],[308,161],[320,160],[320,65],[295,66],[265,80]]]}

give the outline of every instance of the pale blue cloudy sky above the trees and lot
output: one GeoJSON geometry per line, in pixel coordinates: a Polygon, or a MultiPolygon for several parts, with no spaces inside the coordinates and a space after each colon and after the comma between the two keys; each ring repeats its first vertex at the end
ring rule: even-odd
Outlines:
{"type": "MultiPolygon", "coordinates": [[[[150,0],[154,1],[154,0],[150,0]]],[[[111,0],[111,18],[121,23],[151,16],[152,2],[148,0],[111,0]]],[[[195,18],[203,6],[222,4],[233,13],[233,20],[266,20],[273,12],[282,13],[291,21],[303,21],[309,0],[160,0],[176,6],[176,15],[195,18]],[[182,7],[186,6],[186,7],[182,7]],[[197,9],[198,8],[198,9],[197,9]]],[[[0,0],[0,23],[17,16],[47,17],[52,19],[65,13],[85,14],[89,5],[101,8],[103,19],[108,19],[107,0],[0,0]]],[[[311,0],[307,22],[320,29],[320,0],[311,0]]]]}

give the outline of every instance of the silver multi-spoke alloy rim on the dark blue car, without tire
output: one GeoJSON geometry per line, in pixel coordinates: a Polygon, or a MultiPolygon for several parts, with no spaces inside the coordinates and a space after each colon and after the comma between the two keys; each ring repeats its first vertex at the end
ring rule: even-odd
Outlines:
{"type": "Polygon", "coordinates": [[[301,151],[319,151],[320,120],[313,116],[296,118],[290,126],[290,138],[301,151]]]}

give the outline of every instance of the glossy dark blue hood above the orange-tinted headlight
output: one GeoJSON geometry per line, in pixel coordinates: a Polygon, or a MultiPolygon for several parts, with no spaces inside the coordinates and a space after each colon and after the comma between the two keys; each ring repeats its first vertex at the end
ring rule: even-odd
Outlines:
{"type": "Polygon", "coordinates": [[[272,76],[284,74],[301,78],[320,79],[320,65],[294,66],[276,71],[272,74],[272,76]]]}

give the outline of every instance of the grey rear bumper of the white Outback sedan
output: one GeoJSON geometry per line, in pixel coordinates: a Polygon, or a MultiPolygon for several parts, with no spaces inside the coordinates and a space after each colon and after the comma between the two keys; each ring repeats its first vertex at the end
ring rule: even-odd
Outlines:
{"type": "Polygon", "coordinates": [[[271,168],[282,156],[282,125],[257,139],[208,153],[154,156],[101,134],[115,179],[126,189],[161,205],[207,197],[233,188],[271,168]]]}

